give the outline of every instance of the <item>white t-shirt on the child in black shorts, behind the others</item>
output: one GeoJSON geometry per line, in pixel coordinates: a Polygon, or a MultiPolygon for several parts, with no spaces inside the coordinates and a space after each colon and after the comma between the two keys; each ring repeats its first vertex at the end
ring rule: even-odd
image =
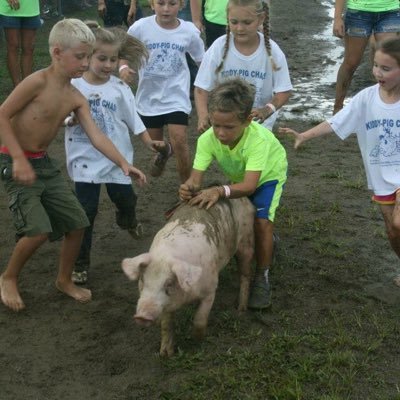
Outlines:
{"type": "Polygon", "coordinates": [[[190,114],[190,73],[185,53],[200,62],[204,43],[200,31],[192,22],[179,20],[175,29],[164,29],[155,15],[141,18],[128,34],[141,40],[150,57],[139,71],[136,104],[139,114],[145,116],[183,111],[190,114]]]}

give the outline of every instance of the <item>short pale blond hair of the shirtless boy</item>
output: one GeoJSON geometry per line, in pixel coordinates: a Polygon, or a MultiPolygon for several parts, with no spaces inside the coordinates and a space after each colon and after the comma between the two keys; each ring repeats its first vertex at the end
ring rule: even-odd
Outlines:
{"type": "Polygon", "coordinates": [[[80,43],[94,47],[96,38],[91,29],[79,19],[66,18],[58,21],[50,31],[50,50],[56,45],[68,49],[80,43]]]}

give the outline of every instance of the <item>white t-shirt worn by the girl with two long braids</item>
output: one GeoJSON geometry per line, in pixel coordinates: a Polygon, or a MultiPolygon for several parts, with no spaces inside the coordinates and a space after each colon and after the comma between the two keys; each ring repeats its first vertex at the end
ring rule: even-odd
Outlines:
{"type": "MultiPolygon", "coordinates": [[[[279,70],[273,71],[265,49],[264,36],[259,33],[259,37],[260,44],[257,50],[253,54],[245,56],[236,49],[233,35],[230,35],[229,51],[222,70],[218,73],[215,73],[215,70],[221,63],[224,54],[226,35],[216,39],[204,54],[194,85],[200,89],[211,91],[218,83],[227,79],[243,78],[255,87],[256,94],[253,105],[255,108],[264,107],[271,101],[274,93],[292,90],[289,69],[283,51],[273,40],[270,40],[271,54],[279,68],[279,70]]],[[[272,129],[277,116],[278,113],[272,114],[264,121],[263,125],[272,129]]]]}

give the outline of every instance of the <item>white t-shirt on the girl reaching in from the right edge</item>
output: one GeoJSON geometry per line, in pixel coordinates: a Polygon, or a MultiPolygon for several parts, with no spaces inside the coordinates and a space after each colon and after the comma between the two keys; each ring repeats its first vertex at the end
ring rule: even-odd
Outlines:
{"type": "Polygon", "coordinates": [[[357,134],[374,194],[389,195],[400,187],[400,101],[384,103],[377,84],[359,92],[328,123],[341,139],[357,134]]]}

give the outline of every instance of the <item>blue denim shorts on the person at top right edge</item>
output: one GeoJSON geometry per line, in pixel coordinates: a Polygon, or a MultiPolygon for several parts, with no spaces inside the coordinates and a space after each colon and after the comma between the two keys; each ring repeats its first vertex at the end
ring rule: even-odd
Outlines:
{"type": "Polygon", "coordinates": [[[346,35],[368,38],[373,33],[400,32],[400,10],[368,12],[347,10],[344,27],[346,35]]]}

